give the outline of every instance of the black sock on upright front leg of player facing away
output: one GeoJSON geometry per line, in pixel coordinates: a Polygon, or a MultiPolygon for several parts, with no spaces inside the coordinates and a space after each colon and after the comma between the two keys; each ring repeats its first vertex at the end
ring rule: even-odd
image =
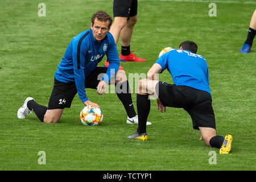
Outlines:
{"type": "Polygon", "coordinates": [[[138,111],[138,133],[146,132],[147,117],[150,113],[150,100],[148,95],[137,94],[137,111],[138,111]]]}

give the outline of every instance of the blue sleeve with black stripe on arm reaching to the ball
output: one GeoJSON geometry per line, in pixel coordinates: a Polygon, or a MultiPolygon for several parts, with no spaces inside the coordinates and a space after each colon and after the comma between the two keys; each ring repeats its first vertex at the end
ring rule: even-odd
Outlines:
{"type": "Polygon", "coordinates": [[[87,52],[87,46],[85,42],[79,43],[79,40],[73,41],[73,69],[75,76],[75,83],[77,94],[82,102],[88,101],[85,92],[85,53],[87,52]]]}

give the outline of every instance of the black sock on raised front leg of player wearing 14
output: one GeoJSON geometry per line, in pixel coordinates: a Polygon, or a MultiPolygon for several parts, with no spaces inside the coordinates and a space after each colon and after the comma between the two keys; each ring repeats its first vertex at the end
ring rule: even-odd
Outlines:
{"type": "Polygon", "coordinates": [[[131,100],[131,90],[129,82],[126,80],[124,82],[119,82],[115,85],[115,92],[117,92],[117,97],[122,102],[125,107],[126,113],[129,118],[135,117],[136,112],[133,106],[133,100],[131,100]]]}

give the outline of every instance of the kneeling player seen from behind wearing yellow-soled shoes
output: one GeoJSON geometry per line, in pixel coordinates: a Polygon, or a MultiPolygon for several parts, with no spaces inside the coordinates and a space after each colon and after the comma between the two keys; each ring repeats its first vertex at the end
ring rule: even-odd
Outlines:
{"type": "Polygon", "coordinates": [[[150,112],[148,95],[156,98],[158,110],[162,113],[168,107],[181,107],[192,118],[193,129],[200,130],[207,146],[221,148],[221,154],[228,154],[232,136],[216,135],[212,95],[209,87],[208,66],[203,56],[196,54],[197,46],[192,41],[180,44],[160,56],[147,73],[147,79],[139,81],[137,94],[138,130],[127,139],[147,140],[146,121],[150,112]],[[156,75],[165,69],[171,73],[174,84],[158,81],[156,75]]]}

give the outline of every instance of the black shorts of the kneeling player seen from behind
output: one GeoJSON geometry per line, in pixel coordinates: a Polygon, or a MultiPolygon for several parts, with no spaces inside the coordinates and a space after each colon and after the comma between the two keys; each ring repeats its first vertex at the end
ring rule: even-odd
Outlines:
{"type": "Polygon", "coordinates": [[[208,92],[162,81],[156,84],[156,91],[164,106],[180,107],[188,112],[192,118],[193,129],[199,130],[199,127],[216,129],[212,96],[208,92]]]}

